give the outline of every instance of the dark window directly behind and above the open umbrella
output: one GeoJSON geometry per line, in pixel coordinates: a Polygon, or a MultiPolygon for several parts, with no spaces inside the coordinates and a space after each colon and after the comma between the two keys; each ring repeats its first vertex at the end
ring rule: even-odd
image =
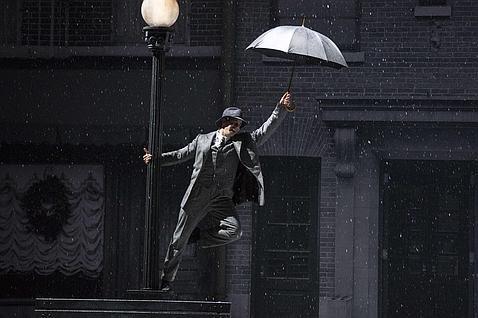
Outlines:
{"type": "Polygon", "coordinates": [[[272,0],[273,25],[304,25],[341,49],[359,49],[358,0],[272,0]]]}

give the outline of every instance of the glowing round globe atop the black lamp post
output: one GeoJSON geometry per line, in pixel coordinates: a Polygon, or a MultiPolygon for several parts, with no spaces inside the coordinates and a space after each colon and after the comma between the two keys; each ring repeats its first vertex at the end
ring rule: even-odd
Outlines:
{"type": "Polygon", "coordinates": [[[144,0],[141,15],[151,27],[170,27],[179,16],[177,0],[144,0]]]}

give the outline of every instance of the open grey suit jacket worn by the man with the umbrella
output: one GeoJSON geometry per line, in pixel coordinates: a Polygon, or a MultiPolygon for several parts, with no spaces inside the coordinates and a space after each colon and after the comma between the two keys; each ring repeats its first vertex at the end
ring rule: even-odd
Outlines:
{"type": "MultiPolygon", "coordinates": [[[[252,132],[240,132],[231,138],[231,142],[236,149],[237,155],[243,167],[246,169],[238,169],[239,172],[247,172],[254,178],[249,180],[255,180],[256,184],[248,184],[250,181],[246,179],[236,180],[235,191],[244,191],[248,189],[257,189],[253,194],[253,200],[257,201],[259,205],[264,204],[264,181],[262,177],[261,165],[259,162],[259,155],[257,153],[257,147],[262,145],[270,138],[280,123],[284,120],[287,111],[281,105],[277,104],[275,109],[269,118],[256,130],[252,132]]],[[[188,205],[191,193],[194,193],[194,187],[196,185],[196,179],[201,172],[203,163],[205,162],[205,156],[211,149],[211,144],[216,132],[210,132],[208,134],[199,134],[191,141],[187,146],[170,152],[165,152],[161,155],[161,165],[169,166],[178,164],[192,158],[194,159],[193,172],[191,174],[191,181],[184,194],[181,202],[181,207],[186,209],[188,205]]],[[[242,168],[242,167],[240,167],[242,168]]],[[[246,177],[243,175],[243,177],[246,177]]],[[[239,193],[237,193],[239,195],[239,193]]],[[[250,200],[251,196],[246,195],[236,201],[240,203],[244,200],[250,200]]]]}

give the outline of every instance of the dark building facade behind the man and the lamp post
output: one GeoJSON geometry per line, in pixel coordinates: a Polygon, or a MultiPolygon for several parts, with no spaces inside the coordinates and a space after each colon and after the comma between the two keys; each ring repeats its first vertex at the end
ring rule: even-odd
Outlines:
{"type": "MultiPolygon", "coordinates": [[[[229,105],[250,127],[267,118],[292,64],[244,49],[272,27],[304,23],[333,39],[349,67],[296,66],[297,110],[260,149],[266,205],[238,207],[240,241],[192,245],[178,293],[227,299],[233,317],[478,316],[478,4],[179,4],[165,150],[214,129],[229,105]]],[[[151,55],[139,7],[9,0],[0,9],[8,317],[28,316],[34,297],[120,298],[141,288],[151,55]],[[68,191],[54,202],[30,195],[59,184],[68,191]],[[68,211],[57,236],[47,239],[59,221],[35,223],[35,203],[44,213],[47,203],[67,204],[53,210],[68,211]]],[[[189,169],[162,171],[161,255],[189,169]]]]}

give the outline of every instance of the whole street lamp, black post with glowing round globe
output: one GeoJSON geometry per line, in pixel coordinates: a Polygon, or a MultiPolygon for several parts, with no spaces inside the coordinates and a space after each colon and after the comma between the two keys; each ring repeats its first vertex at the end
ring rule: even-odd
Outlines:
{"type": "Polygon", "coordinates": [[[153,154],[147,166],[142,289],[159,290],[160,284],[160,158],[162,146],[163,77],[165,53],[169,49],[171,26],[179,15],[176,0],[144,0],[141,15],[148,24],[143,28],[145,41],[153,53],[148,150],[153,154]]]}

